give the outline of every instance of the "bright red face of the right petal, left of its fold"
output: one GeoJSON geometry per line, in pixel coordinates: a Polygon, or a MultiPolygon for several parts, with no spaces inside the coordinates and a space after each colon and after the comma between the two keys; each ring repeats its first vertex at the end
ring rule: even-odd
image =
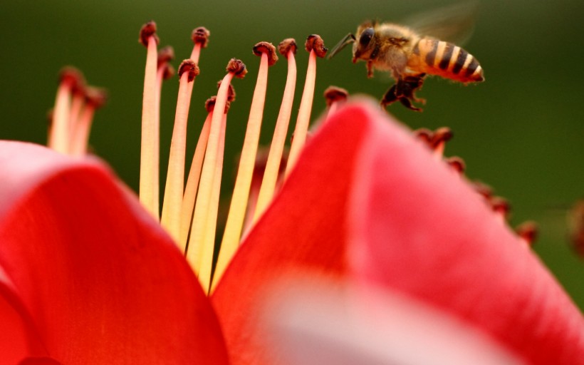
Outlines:
{"type": "Polygon", "coordinates": [[[330,120],[298,160],[272,205],[241,245],[212,302],[232,364],[256,364],[256,311],[273,279],[315,269],[346,271],[345,215],[365,126],[358,115],[330,120]],[[338,125],[337,125],[338,123],[338,125]]]}

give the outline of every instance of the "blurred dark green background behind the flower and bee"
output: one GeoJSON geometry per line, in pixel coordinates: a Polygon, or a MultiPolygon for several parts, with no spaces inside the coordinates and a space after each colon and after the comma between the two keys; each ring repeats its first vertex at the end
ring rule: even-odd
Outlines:
{"type": "MultiPolygon", "coordinates": [[[[122,180],[137,189],[145,64],[138,30],[154,19],[160,45],[174,46],[177,66],[190,54],[192,29],[206,26],[211,38],[194,86],[187,156],[192,156],[204,120],[204,100],[216,92],[229,58],[241,58],[250,71],[246,79],[234,81],[237,101],[226,136],[228,192],[259,65],[259,58],[251,54],[254,43],[277,44],[293,37],[302,44],[308,34],[320,34],[332,47],[365,19],[400,21],[444,4],[449,2],[3,1],[0,138],[45,143],[46,112],[55,98],[58,71],[76,66],[89,83],[108,88],[110,94],[108,105],[95,118],[90,143],[122,180]]],[[[465,48],[481,62],[486,82],[464,87],[432,78],[419,93],[428,101],[424,113],[400,105],[390,108],[412,128],[448,125],[454,130],[447,155],[462,156],[469,178],[489,183],[497,195],[511,201],[512,225],[528,219],[539,222],[541,238],[535,250],[581,309],[584,263],[566,241],[565,212],[584,196],[583,14],[581,0],[484,1],[465,48]]],[[[298,105],[307,53],[299,51],[296,58],[298,105]]],[[[350,63],[349,50],[331,61],[319,60],[313,118],[325,106],[321,96],[329,85],[380,98],[389,79],[365,76],[364,63],[350,63]]],[[[264,144],[271,140],[285,78],[286,62],[281,60],[269,75],[264,144]]],[[[162,162],[170,145],[177,86],[174,78],[163,87],[162,162]]],[[[165,163],[161,175],[165,177],[165,163]]],[[[229,194],[224,198],[229,200],[229,194]]]]}

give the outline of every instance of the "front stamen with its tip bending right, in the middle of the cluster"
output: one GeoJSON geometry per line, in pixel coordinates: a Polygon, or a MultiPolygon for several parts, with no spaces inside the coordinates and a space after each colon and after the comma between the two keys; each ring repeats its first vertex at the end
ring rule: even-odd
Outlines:
{"type": "MultiPolygon", "coordinates": [[[[243,62],[231,58],[231,61],[229,61],[229,64],[227,65],[227,74],[223,78],[219,91],[217,92],[215,110],[224,110],[231,79],[234,76],[243,78],[246,72],[243,62]]],[[[205,153],[201,179],[199,182],[197,203],[194,207],[189,246],[187,247],[187,261],[197,274],[199,274],[199,269],[201,268],[204,247],[206,245],[211,247],[214,245],[214,237],[207,237],[207,219],[209,218],[209,213],[212,211],[211,195],[216,175],[215,170],[218,168],[217,156],[220,147],[219,140],[221,138],[221,120],[223,119],[223,114],[224,113],[213,113],[211,119],[207,152],[205,153]]],[[[221,167],[219,166],[219,168],[221,167]]],[[[216,223],[217,222],[213,222],[213,224],[216,223]]],[[[199,280],[204,286],[209,285],[208,279],[209,278],[204,278],[199,275],[199,280]]]]}

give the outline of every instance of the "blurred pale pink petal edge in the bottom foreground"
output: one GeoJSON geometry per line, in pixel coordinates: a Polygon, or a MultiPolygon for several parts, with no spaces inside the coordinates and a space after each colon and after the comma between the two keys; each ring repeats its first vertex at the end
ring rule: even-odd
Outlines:
{"type": "Polygon", "coordinates": [[[481,331],[387,289],[286,284],[261,318],[274,364],[523,364],[481,331]]]}

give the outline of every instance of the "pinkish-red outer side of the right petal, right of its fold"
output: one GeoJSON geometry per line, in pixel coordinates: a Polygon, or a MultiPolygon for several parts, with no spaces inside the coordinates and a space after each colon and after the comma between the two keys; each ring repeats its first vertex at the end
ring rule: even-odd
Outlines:
{"type": "Polygon", "coordinates": [[[583,317],[540,260],[404,128],[359,110],[370,132],[353,196],[360,274],[462,317],[530,364],[584,364],[583,317]]]}

